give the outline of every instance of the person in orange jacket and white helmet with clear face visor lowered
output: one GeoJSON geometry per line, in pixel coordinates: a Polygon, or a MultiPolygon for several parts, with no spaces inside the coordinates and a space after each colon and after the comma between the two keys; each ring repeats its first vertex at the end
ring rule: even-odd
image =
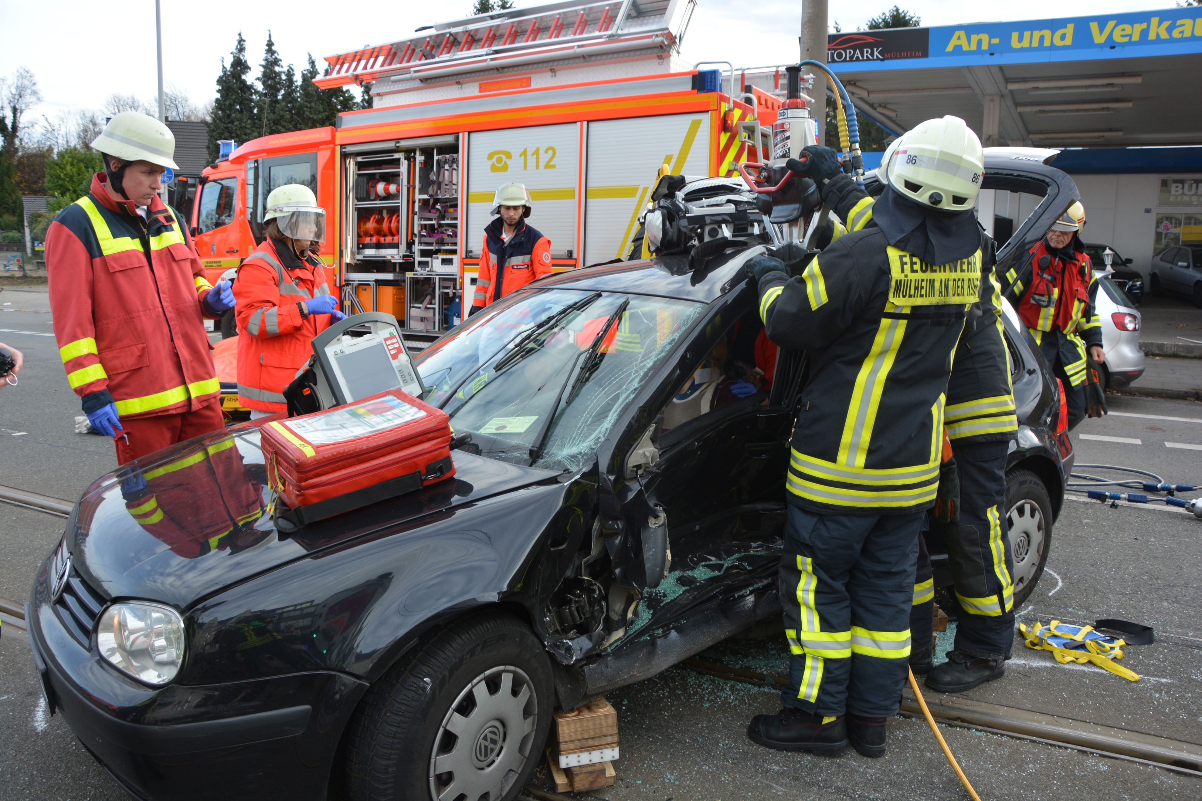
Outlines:
{"type": "Polygon", "coordinates": [[[311,251],[326,240],[326,210],[313,190],[286,184],[267,196],[267,238],[238,268],[238,401],[250,419],[287,411],[284,388],[313,355],[313,337],[343,319],[326,268],[311,251]]]}

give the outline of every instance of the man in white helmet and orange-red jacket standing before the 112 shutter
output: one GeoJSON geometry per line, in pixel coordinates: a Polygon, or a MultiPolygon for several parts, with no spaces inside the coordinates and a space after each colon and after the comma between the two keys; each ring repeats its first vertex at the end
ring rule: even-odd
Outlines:
{"type": "Polygon", "coordinates": [[[551,275],[551,240],[526,225],[530,192],[523,184],[502,184],[493,197],[495,220],[484,227],[476,294],[471,312],[551,275]]]}

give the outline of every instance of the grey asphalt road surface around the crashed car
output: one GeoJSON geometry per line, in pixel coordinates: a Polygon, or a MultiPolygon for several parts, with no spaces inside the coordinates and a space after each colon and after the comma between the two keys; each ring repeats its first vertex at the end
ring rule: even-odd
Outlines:
{"type": "MultiPolygon", "coordinates": [[[[42,335],[50,333],[44,293],[5,291],[2,303],[13,305],[0,305],[0,341],[20,348],[26,361],[20,384],[0,390],[0,484],[73,500],[112,468],[112,446],[73,432],[78,402],[66,387],[53,337],[42,335]]],[[[1079,464],[1127,465],[1202,484],[1202,404],[1112,396],[1111,412],[1073,432],[1079,464]],[[1129,442],[1136,440],[1138,444],[1129,442]]],[[[19,602],[28,596],[34,572],[61,528],[61,518],[0,506],[0,597],[19,602]]],[[[1123,617],[1152,624],[1158,642],[1129,647],[1123,662],[1143,679],[1132,683],[1091,666],[1063,666],[1016,636],[1006,677],[969,695],[1202,743],[1202,694],[1196,692],[1202,680],[1200,568],[1202,521],[1192,515],[1066,501],[1047,572],[1019,620],[1123,617]]],[[[731,664],[750,660],[769,673],[783,671],[786,658],[784,644],[775,640],[724,645],[712,656],[731,664]]],[[[673,669],[609,699],[619,712],[621,759],[618,783],[595,793],[599,799],[965,797],[922,722],[892,721],[883,759],[851,751],[815,758],[746,740],[748,719],[779,706],[770,691],[673,669]]],[[[1202,779],[1195,777],[1010,737],[941,730],[989,801],[1202,797],[1202,779]]],[[[126,796],[61,716],[46,715],[25,636],[6,626],[0,636],[0,799],[26,797],[126,796]]]]}

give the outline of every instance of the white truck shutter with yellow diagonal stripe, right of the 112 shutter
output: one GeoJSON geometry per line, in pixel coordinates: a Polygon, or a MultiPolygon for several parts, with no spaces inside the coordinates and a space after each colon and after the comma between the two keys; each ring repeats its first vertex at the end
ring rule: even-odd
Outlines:
{"type": "Polygon", "coordinates": [[[638,215],[667,161],[677,175],[709,175],[709,114],[589,122],[584,261],[625,258],[638,215]]]}

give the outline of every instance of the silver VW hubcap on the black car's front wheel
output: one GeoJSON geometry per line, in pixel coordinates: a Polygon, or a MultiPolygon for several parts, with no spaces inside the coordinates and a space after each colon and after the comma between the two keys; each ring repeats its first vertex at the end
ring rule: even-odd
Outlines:
{"type": "Polygon", "coordinates": [[[534,747],[538,701],[530,677],[502,665],[476,676],[442,719],[430,753],[434,801],[500,801],[534,747]]]}

